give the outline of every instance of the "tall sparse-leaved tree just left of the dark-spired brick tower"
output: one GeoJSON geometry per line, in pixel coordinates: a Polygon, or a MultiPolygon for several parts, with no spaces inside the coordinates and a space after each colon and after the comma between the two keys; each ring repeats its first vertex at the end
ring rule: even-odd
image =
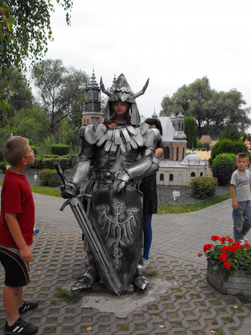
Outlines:
{"type": "Polygon", "coordinates": [[[48,111],[51,134],[57,133],[61,120],[68,118],[73,122],[76,113],[81,116],[77,107],[80,104],[83,109],[85,88],[89,82],[84,71],[67,68],[60,59],[47,59],[34,66],[32,78],[39,89],[43,107],[48,111]]]}

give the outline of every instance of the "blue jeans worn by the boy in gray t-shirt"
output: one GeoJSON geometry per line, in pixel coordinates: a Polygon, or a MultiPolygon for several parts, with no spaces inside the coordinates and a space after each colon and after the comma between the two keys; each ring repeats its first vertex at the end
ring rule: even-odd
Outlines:
{"type": "Polygon", "coordinates": [[[238,214],[235,216],[233,210],[233,237],[235,242],[244,239],[244,235],[251,227],[251,201],[237,201],[238,214]]]}

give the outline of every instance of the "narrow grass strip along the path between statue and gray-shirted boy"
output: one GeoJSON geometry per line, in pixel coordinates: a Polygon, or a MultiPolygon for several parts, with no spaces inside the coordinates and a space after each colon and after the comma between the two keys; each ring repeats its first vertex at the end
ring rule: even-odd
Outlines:
{"type": "Polygon", "coordinates": [[[167,205],[167,206],[158,206],[158,214],[181,214],[195,212],[200,209],[216,205],[222,201],[228,200],[231,198],[230,192],[215,197],[210,197],[202,200],[199,203],[191,205],[167,205]]]}

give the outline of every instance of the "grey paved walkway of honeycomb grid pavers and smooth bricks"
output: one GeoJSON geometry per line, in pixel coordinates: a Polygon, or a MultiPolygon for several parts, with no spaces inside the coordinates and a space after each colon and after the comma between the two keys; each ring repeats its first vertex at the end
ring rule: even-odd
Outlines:
{"type": "MultiPolygon", "coordinates": [[[[38,334],[251,334],[251,304],[208,284],[206,261],[197,257],[211,235],[232,236],[230,201],[193,213],[154,215],[146,293],[84,293],[67,301],[62,295],[85,268],[81,232],[70,208],[59,211],[63,199],[34,194],[34,201],[40,232],[24,297],[39,306],[23,316],[39,327],[38,334]]],[[[0,282],[2,295],[2,267],[0,282]]],[[[0,334],[5,320],[1,299],[0,334]]]]}

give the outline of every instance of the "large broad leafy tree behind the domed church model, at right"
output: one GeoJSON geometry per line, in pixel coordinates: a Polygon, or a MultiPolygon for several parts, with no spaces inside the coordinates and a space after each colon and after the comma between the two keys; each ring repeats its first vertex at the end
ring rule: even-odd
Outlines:
{"type": "Polygon", "coordinates": [[[215,133],[227,124],[233,124],[243,131],[251,125],[248,118],[251,108],[242,108],[245,104],[240,92],[235,89],[217,92],[211,89],[208,78],[204,76],[183,85],[171,98],[164,97],[160,115],[170,116],[181,109],[184,116],[194,117],[199,135],[209,134],[209,130],[215,133]]]}

